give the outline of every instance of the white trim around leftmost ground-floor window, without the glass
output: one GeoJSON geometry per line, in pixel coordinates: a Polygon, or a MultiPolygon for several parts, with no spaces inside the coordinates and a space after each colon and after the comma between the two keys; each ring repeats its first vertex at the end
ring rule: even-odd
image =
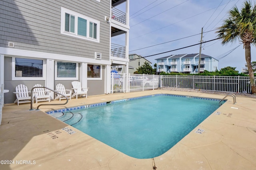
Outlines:
{"type": "Polygon", "coordinates": [[[43,77],[15,77],[15,58],[16,57],[12,57],[12,81],[14,80],[46,80],[46,60],[45,59],[17,57],[17,58],[25,58],[25,59],[43,60],[43,77]]]}

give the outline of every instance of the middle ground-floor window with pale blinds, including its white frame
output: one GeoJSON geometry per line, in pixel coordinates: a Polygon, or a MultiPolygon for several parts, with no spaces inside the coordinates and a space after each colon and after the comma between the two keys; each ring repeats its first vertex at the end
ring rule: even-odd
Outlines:
{"type": "Polygon", "coordinates": [[[78,80],[77,63],[57,61],[55,63],[56,80],[78,80]]]}

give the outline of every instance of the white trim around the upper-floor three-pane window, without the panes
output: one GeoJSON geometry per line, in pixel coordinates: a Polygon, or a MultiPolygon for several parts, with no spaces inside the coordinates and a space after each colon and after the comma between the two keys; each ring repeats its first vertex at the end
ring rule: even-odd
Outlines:
{"type": "Polygon", "coordinates": [[[84,40],[89,40],[89,41],[92,41],[92,42],[100,42],[100,21],[98,20],[94,20],[92,18],[89,18],[88,16],[84,16],[82,14],[79,14],[77,12],[74,12],[72,10],[68,10],[66,8],[63,8],[61,7],[61,28],[60,28],[60,34],[64,34],[64,35],[67,35],[67,36],[72,36],[72,37],[76,37],[76,38],[81,38],[81,39],[84,39],[84,40]],[[65,13],[68,13],[68,14],[71,14],[73,16],[75,16],[75,33],[70,33],[70,32],[66,32],[65,31],[65,13]],[[88,28],[87,28],[87,37],[84,37],[84,36],[80,36],[77,34],[77,24],[78,24],[78,17],[80,18],[84,18],[87,20],[87,23],[88,23],[88,28]],[[90,38],[90,35],[89,35],[89,22],[93,22],[93,23],[96,23],[97,24],[97,32],[96,32],[96,39],[94,38],[90,38]]]}

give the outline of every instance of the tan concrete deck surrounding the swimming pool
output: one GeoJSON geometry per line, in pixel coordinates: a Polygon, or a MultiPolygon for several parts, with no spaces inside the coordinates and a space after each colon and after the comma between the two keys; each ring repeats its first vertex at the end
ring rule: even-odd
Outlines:
{"type": "MultiPolygon", "coordinates": [[[[215,99],[226,96],[149,90],[72,99],[64,106],[41,106],[40,111],[30,111],[30,104],[5,105],[0,127],[0,160],[5,161],[0,162],[0,169],[153,170],[153,166],[157,170],[256,169],[256,98],[237,95],[237,103],[234,105],[233,98],[228,96],[228,101],[198,127],[166,153],[154,159],[127,156],[44,113],[65,107],[160,93],[215,99]],[[196,133],[198,128],[204,131],[196,133]],[[68,133],[72,131],[76,133],[68,133]]],[[[64,102],[65,100],[61,101],[64,102]]],[[[33,107],[43,103],[48,102],[34,103],[33,107]]],[[[54,103],[59,101],[50,102],[54,103]]]]}

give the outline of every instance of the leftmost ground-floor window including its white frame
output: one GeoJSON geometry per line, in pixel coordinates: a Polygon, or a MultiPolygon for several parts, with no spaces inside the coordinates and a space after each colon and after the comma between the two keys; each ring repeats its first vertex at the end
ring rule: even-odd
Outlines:
{"type": "Polygon", "coordinates": [[[12,57],[12,80],[44,80],[44,61],[12,57]]]}

